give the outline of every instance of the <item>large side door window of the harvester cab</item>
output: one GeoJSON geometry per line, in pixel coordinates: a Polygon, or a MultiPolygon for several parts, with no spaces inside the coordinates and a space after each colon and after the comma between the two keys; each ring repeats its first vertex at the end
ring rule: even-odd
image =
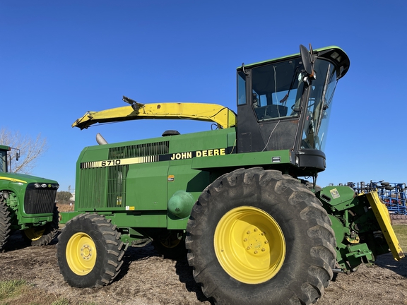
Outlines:
{"type": "Polygon", "coordinates": [[[252,103],[258,121],[299,115],[302,69],[301,59],[252,69],[252,103]]]}

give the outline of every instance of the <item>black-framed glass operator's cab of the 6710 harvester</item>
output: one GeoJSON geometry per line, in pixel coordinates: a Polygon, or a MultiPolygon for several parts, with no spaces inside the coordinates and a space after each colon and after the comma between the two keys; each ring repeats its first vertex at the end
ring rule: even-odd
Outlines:
{"type": "Polygon", "coordinates": [[[350,61],[338,47],[300,51],[237,68],[237,152],[290,150],[302,176],[325,169],[331,102],[350,61]]]}

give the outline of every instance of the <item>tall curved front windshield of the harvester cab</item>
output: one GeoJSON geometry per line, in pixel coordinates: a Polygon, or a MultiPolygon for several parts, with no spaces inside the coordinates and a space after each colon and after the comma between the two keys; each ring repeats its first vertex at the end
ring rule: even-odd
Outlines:
{"type": "Polygon", "coordinates": [[[336,88],[336,69],[333,64],[317,59],[314,66],[316,79],[309,88],[304,132],[301,148],[324,150],[332,97],[336,88]]]}

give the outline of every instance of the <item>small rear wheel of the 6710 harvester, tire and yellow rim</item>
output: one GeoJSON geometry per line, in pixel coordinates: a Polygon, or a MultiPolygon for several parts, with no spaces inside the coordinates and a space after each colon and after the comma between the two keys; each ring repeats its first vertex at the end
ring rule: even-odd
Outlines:
{"type": "Polygon", "coordinates": [[[57,258],[64,280],[73,287],[110,284],[122,267],[123,242],[104,215],[73,217],[59,235],[57,258]]]}

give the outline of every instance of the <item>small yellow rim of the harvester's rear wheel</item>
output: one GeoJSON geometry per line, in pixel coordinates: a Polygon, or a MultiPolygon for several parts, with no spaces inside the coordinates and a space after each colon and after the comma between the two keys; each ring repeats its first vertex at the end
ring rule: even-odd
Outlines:
{"type": "Polygon", "coordinates": [[[66,244],[66,261],[72,272],[87,275],[96,263],[96,246],[88,234],[73,234],[66,244]]]}

